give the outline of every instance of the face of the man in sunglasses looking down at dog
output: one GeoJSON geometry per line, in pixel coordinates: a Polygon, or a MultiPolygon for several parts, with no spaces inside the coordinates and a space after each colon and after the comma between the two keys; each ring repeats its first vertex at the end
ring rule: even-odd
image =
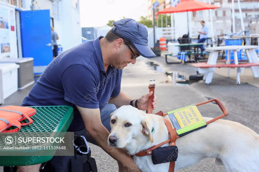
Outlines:
{"type": "Polygon", "coordinates": [[[134,49],[134,47],[128,47],[123,39],[119,38],[115,42],[116,52],[111,60],[111,65],[118,69],[123,69],[129,63],[135,64],[136,59],[132,59],[134,54],[139,55],[139,53],[134,49]]]}

